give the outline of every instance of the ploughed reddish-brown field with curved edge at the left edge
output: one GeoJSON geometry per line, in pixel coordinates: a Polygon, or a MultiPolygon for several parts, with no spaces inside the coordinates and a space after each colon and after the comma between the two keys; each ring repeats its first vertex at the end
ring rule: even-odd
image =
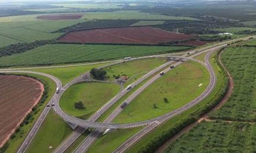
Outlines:
{"type": "Polygon", "coordinates": [[[0,146],[39,102],[43,91],[43,84],[35,79],[0,75],[0,146]]]}

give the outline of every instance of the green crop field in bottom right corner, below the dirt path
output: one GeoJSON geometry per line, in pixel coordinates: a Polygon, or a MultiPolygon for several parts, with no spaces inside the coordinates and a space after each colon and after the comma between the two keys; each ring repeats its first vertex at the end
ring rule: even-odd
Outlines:
{"type": "Polygon", "coordinates": [[[201,122],[184,133],[164,153],[254,152],[255,124],[201,122]]]}

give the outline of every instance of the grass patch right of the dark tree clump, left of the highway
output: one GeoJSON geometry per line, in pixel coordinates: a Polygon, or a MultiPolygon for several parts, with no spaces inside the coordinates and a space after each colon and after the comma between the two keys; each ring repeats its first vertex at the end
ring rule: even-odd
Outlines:
{"type": "Polygon", "coordinates": [[[166,58],[146,58],[113,65],[104,68],[104,70],[107,71],[106,75],[110,81],[115,80],[114,75],[120,77],[122,75],[127,76],[128,80],[124,83],[124,87],[126,87],[165,62],[167,62],[166,58]]]}

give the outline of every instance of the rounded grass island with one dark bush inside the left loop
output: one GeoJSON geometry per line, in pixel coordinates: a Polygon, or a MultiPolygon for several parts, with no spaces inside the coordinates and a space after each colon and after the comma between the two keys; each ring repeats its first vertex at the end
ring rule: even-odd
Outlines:
{"type": "Polygon", "coordinates": [[[113,98],[119,90],[120,86],[112,83],[83,82],[74,84],[61,96],[60,107],[69,115],[86,119],[113,98]],[[74,107],[75,103],[79,101],[84,104],[83,109],[74,107]]]}

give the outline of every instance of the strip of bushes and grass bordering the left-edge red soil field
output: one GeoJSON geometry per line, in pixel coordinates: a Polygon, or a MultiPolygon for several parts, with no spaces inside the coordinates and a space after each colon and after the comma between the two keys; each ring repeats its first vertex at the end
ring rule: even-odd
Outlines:
{"type": "MultiPolygon", "coordinates": [[[[8,75],[5,73],[2,73],[1,75],[8,75]]],[[[24,125],[27,125],[28,123],[32,122],[34,120],[34,115],[36,115],[40,109],[40,106],[42,106],[44,104],[44,102],[46,101],[47,97],[48,97],[48,91],[49,91],[49,86],[48,83],[42,79],[33,77],[33,76],[29,76],[29,75],[19,75],[19,74],[15,74],[18,76],[26,76],[26,77],[31,77],[34,79],[39,80],[43,85],[44,85],[44,92],[43,95],[39,101],[39,103],[37,105],[35,105],[32,109],[31,112],[25,116],[25,118],[23,119],[23,121],[20,123],[20,125],[18,127],[16,127],[14,133],[12,133],[12,135],[10,136],[10,139],[13,139],[17,136],[18,133],[20,133],[21,135],[23,135],[23,133],[21,133],[21,129],[24,125]]],[[[8,148],[9,143],[8,141],[0,148],[0,153],[4,153],[5,150],[8,148]]]]}

